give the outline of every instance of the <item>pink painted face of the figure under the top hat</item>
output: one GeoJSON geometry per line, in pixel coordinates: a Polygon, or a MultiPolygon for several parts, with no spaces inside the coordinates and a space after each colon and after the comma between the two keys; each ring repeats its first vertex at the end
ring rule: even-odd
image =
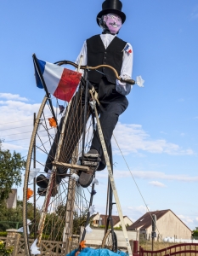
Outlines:
{"type": "Polygon", "coordinates": [[[116,34],[122,27],[121,17],[115,14],[105,15],[103,21],[105,21],[106,26],[112,34],[116,34]]]}

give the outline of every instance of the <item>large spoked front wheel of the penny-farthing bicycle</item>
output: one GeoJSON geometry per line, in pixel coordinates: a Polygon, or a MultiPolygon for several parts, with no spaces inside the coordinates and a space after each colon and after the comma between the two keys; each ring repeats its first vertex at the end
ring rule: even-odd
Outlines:
{"type": "Polygon", "coordinates": [[[31,256],[31,244],[36,239],[40,255],[65,255],[71,252],[78,247],[81,226],[88,223],[88,208],[93,199],[94,185],[83,189],[72,178],[78,170],[53,166],[54,160],[71,165],[77,163],[82,153],[84,117],[87,123],[84,151],[88,151],[90,147],[93,137],[92,118],[89,118],[89,108],[87,115],[84,114],[86,104],[83,101],[82,83],[69,104],[52,98],[54,118],[59,124],[56,128],[49,125],[48,119],[52,118],[53,111],[47,97],[44,97],[37,113],[24,181],[25,255],[31,256]],[[64,109],[63,113],[59,114],[59,109],[64,109]],[[52,170],[48,189],[39,189],[36,186],[33,173],[38,168],[40,171],[37,175],[46,176],[44,171],[52,170]]]}

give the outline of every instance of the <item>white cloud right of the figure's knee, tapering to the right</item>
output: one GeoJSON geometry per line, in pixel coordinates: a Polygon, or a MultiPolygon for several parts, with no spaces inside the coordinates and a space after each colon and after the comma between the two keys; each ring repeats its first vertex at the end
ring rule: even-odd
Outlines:
{"type": "MultiPolygon", "coordinates": [[[[122,149],[122,154],[137,154],[139,151],[171,155],[194,154],[192,149],[184,149],[177,144],[167,143],[165,139],[151,139],[150,135],[143,130],[142,125],[127,125],[118,122],[114,134],[119,147],[122,149]]],[[[114,139],[112,144],[114,154],[120,154],[114,139]]]]}

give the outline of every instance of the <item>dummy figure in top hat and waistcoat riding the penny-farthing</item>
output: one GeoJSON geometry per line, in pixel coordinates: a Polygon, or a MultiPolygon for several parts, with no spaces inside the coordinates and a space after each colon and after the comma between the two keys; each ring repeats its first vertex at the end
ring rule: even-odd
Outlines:
{"type": "MultiPolygon", "coordinates": [[[[97,15],[97,23],[103,32],[84,42],[76,63],[78,64],[80,56],[82,56],[82,66],[110,65],[116,69],[122,79],[131,79],[132,46],[116,36],[125,20],[126,15],[122,12],[122,2],[120,0],[105,0],[102,4],[102,11],[97,15]]],[[[110,68],[103,67],[98,71],[89,71],[88,80],[98,92],[99,102],[102,106],[99,112],[99,121],[106,147],[110,150],[110,140],[118,118],[128,106],[126,96],[131,90],[131,85],[116,79],[115,73],[110,68]]],[[[94,172],[105,169],[105,157],[98,132],[94,133],[91,148],[87,154],[84,154],[84,158],[84,163],[90,166],[90,172],[81,172],[79,183],[86,188],[92,183],[94,172]]],[[[47,172],[48,178],[50,170],[47,172]]],[[[59,172],[59,168],[57,172],[59,172]]],[[[38,176],[37,185],[46,188],[48,179],[45,178],[45,184],[42,181],[43,175],[38,176]]]]}

